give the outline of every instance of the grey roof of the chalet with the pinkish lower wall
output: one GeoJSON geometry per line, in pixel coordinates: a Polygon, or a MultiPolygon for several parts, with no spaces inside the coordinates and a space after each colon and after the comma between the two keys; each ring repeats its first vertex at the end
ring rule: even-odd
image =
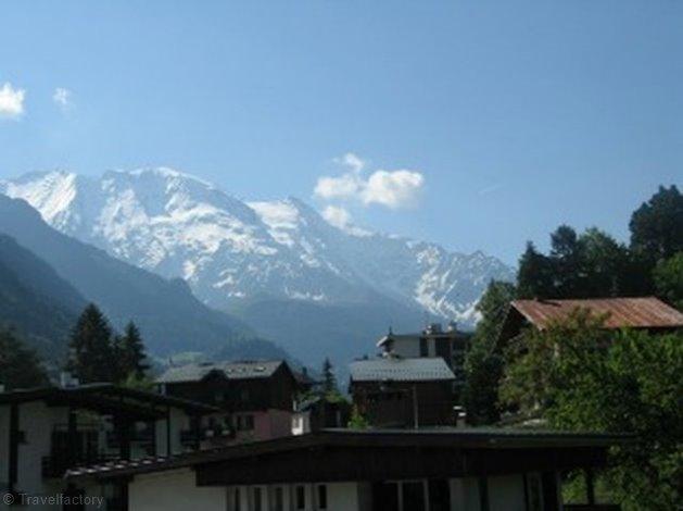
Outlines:
{"type": "Polygon", "coordinates": [[[218,372],[228,379],[269,378],[283,363],[283,360],[269,360],[179,365],[177,367],[169,367],[164,374],[156,378],[156,382],[199,382],[212,372],[218,372]]]}

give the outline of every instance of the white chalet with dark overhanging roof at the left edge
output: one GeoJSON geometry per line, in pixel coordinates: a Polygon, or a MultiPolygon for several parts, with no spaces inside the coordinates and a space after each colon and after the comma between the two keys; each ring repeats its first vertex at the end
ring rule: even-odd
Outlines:
{"type": "MultiPolygon", "coordinates": [[[[214,407],[152,392],[90,384],[0,394],[0,490],[21,496],[77,491],[91,507],[117,507],[121,487],[66,487],[67,469],[104,461],[180,454],[192,420],[214,407]]],[[[7,497],[5,497],[7,498],[7,497]]],[[[5,500],[7,503],[7,500],[5,500]]],[[[30,509],[58,509],[31,504],[30,509]]]]}

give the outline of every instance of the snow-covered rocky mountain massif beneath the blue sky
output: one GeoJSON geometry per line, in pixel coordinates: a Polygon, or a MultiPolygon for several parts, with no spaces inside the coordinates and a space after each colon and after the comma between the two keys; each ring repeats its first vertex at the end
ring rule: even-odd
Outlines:
{"type": "Polygon", "coordinates": [[[513,277],[481,252],[339,228],[298,199],[243,202],[169,169],[34,173],[0,182],[0,192],[25,199],[65,234],[185,278],[224,310],[264,299],[320,306],[388,299],[471,325],[486,283],[513,277]]]}

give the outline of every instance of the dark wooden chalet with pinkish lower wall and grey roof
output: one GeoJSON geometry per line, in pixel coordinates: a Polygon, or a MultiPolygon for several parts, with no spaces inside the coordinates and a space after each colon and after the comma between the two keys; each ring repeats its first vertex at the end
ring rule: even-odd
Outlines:
{"type": "Polygon", "coordinates": [[[291,435],[301,384],[287,362],[246,361],[189,364],[168,369],[160,391],[219,408],[202,447],[291,435]]]}

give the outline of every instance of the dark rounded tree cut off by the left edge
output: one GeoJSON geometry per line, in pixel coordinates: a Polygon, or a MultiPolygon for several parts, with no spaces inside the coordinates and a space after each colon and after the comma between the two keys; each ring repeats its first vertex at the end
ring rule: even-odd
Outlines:
{"type": "Polygon", "coordinates": [[[7,390],[48,385],[48,376],[34,350],[13,329],[0,329],[0,384],[7,390]]]}

